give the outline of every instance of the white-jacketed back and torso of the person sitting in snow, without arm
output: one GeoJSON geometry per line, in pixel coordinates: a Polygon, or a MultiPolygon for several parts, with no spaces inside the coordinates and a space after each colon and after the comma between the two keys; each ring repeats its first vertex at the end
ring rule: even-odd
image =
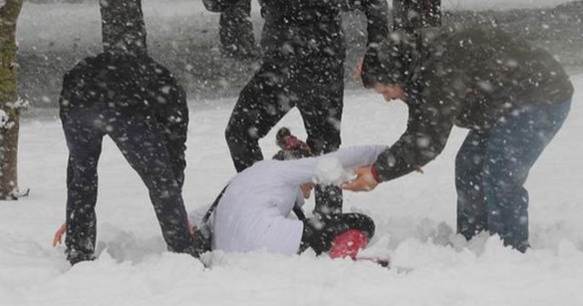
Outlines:
{"type": "Polygon", "coordinates": [[[303,198],[300,183],[286,181],[287,170],[281,161],[262,160],[230,181],[213,219],[220,225],[214,227],[214,249],[298,251],[302,222],[287,216],[303,198]]]}

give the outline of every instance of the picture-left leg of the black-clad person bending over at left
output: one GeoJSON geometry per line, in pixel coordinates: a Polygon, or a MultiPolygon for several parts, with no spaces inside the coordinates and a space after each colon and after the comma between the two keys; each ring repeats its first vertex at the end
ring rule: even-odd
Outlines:
{"type": "Polygon", "coordinates": [[[66,167],[66,259],[92,260],[96,245],[97,162],[104,133],[93,108],[74,108],[61,117],[69,158],[66,167]]]}

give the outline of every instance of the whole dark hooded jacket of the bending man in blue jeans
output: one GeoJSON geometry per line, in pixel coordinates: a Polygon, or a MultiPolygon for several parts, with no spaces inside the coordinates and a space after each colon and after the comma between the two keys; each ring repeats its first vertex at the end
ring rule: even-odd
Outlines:
{"type": "Polygon", "coordinates": [[[381,180],[401,177],[441,153],[455,126],[485,129],[515,107],[568,101],[573,86],[553,56],[489,26],[422,30],[401,45],[407,63],[378,48],[387,76],[405,88],[409,119],[404,134],[374,163],[381,180]],[[414,46],[414,51],[407,47],[414,46]],[[399,71],[400,70],[400,71],[399,71]]]}

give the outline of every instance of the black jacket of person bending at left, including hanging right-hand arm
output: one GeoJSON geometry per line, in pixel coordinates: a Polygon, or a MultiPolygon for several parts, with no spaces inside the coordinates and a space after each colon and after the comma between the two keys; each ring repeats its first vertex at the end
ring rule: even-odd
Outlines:
{"type": "Polygon", "coordinates": [[[153,118],[164,134],[180,185],[189,125],[186,94],[169,70],[149,56],[101,53],[69,70],[59,97],[61,118],[77,107],[114,109],[120,116],[153,118]]]}

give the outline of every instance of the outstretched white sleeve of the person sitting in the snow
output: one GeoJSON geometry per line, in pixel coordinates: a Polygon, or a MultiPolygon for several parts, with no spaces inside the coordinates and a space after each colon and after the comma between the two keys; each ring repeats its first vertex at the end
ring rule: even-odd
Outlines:
{"type": "Polygon", "coordinates": [[[318,164],[324,159],[337,159],[344,169],[352,170],[373,165],[376,158],[388,147],[386,146],[359,146],[341,148],[335,152],[324,154],[316,158],[301,158],[282,160],[276,170],[285,181],[294,184],[312,182],[318,164]]]}

